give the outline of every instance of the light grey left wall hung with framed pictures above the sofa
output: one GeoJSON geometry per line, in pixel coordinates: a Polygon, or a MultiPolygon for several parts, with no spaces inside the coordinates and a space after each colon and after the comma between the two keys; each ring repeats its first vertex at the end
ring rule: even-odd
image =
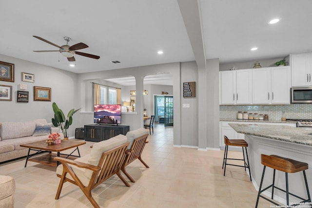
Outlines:
{"type": "MultiPolygon", "coordinates": [[[[12,86],[12,101],[0,101],[0,122],[28,121],[45,118],[51,122],[54,117],[52,102],[56,102],[65,115],[72,108],[80,108],[78,100],[77,74],[36,64],[22,59],[0,55],[0,60],[14,64],[14,82],[0,81],[0,85],[12,86]],[[35,82],[21,81],[22,72],[35,75],[35,82]],[[17,91],[20,84],[26,84],[29,92],[28,103],[18,103],[17,91]],[[50,101],[34,101],[34,86],[51,88],[50,101]]],[[[78,113],[73,116],[69,136],[74,136],[78,113]]]]}

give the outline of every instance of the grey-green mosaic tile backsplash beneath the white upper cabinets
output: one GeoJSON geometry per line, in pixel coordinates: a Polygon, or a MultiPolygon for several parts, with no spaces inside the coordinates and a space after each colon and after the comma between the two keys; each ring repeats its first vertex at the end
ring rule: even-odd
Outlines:
{"type": "Polygon", "coordinates": [[[286,118],[312,119],[312,104],[291,105],[220,105],[220,118],[235,119],[238,111],[269,114],[270,120],[286,118]]]}

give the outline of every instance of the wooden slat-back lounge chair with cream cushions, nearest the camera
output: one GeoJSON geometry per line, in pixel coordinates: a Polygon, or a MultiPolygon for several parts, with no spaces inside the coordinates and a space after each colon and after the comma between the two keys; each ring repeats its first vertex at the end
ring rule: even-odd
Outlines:
{"type": "Polygon", "coordinates": [[[94,144],[90,154],[76,160],[55,157],[55,160],[62,163],[57,168],[57,176],[60,177],[60,181],[55,199],[59,199],[63,184],[70,182],[82,190],[95,208],[99,208],[98,203],[92,197],[91,190],[108,178],[117,174],[122,182],[130,187],[120,174],[129,144],[127,137],[119,134],[94,144]]]}

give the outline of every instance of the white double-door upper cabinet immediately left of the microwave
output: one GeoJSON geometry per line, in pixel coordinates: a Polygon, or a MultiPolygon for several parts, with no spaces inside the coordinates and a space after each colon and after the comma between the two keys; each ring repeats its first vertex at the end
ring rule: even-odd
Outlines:
{"type": "Polygon", "coordinates": [[[290,104],[289,66],[260,68],[252,72],[253,104],[290,104]]]}

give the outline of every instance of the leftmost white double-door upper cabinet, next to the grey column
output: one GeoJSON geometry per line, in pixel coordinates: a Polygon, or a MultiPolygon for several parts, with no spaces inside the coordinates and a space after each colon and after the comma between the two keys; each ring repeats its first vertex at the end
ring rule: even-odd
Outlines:
{"type": "Polygon", "coordinates": [[[251,94],[251,71],[223,71],[219,73],[219,91],[222,105],[250,104],[251,94]]]}

